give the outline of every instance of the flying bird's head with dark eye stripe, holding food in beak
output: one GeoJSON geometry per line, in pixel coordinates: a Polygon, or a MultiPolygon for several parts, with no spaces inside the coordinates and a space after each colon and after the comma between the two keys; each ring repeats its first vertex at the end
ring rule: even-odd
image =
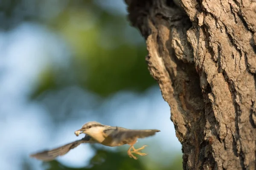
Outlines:
{"type": "Polygon", "coordinates": [[[101,133],[105,129],[105,125],[102,125],[99,122],[87,122],[85,123],[81,129],[76,130],[75,134],[76,136],[79,136],[81,133],[85,133],[89,136],[92,136],[95,133],[101,133]]]}

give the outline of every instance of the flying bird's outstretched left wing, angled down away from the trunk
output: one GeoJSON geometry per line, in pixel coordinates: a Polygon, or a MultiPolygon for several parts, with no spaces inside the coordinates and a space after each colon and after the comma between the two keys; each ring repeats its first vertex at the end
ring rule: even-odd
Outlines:
{"type": "Polygon", "coordinates": [[[75,147],[77,147],[79,144],[94,143],[94,142],[95,141],[93,141],[90,136],[84,136],[84,138],[82,138],[78,141],[74,141],[74,142],[71,142],[69,144],[65,144],[61,147],[57,147],[57,148],[52,149],[52,150],[44,150],[42,152],[38,152],[38,153],[30,155],[30,157],[33,157],[33,158],[36,158],[36,159],[39,159],[39,160],[42,160],[42,161],[52,161],[57,156],[65,155],[71,149],[74,149],[75,147]]]}

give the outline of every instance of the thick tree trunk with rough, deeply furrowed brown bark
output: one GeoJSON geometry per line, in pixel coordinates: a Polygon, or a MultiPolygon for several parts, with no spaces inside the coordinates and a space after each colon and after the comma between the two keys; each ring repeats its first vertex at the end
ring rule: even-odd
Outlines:
{"type": "Polygon", "coordinates": [[[256,169],[256,1],[125,2],[171,107],[183,169],[256,169]]]}

